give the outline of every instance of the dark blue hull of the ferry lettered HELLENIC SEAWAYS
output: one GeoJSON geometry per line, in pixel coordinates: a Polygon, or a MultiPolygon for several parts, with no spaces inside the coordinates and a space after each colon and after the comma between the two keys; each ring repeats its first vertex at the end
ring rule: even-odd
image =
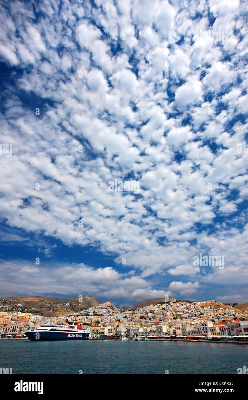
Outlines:
{"type": "Polygon", "coordinates": [[[31,341],[39,340],[87,340],[89,333],[70,333],[70,332],[26,332],[25,335],[31,341]]]}

